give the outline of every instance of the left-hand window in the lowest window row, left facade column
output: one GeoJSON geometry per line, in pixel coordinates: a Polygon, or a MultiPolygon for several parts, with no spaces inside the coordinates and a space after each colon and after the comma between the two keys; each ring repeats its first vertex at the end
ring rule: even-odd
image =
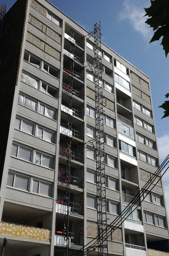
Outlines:
{"type": "Polygon", "coordinates": [[[8,172],[7,186],[28,191],[29,177],[8,172]]]}

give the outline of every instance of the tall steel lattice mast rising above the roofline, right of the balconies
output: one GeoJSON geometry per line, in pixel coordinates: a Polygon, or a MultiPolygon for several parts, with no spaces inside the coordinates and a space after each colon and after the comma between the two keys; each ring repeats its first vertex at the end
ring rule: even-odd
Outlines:
{"type": "Polygon", "coordinates": [[[101,24],[94,25],[94,53],[95,53],[95,93],[96,93],[96,170],[97,170],[97,226],[98,226],[98,255],[108,255],[106,211],[106,178],[104,157],[104,126],[103,126],[103,88],[101,64],[101,24]],[[106,238],[105,238],[106,237],[106,238]]]}

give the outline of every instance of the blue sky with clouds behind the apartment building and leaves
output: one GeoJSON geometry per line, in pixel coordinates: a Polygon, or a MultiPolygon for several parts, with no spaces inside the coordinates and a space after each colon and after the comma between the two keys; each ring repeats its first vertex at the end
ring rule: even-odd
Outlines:
{"type": "MultiPolygon", "coordinates": [[[[5,0],[7,9],[15,0],[5,0]]],[[[150,77],[152,103],[155,115],[158,147],[161,160],[169,154],[169,118],[163,116],[161,105],[166,93],[169,93],[168,75],[169,56],[165,57],[161,40],[149,44],[152,29],[146,25],[144,7],[150,6],[150,0],[51,0],[57,8],[71,17],[88,31],[101,20],[102,41],[115,52],[132,63],[150,77]]],[[[166,174],[165,180],[169,181],[166,174]]],[[[169,182],[165,181],[167,198],[169,182]]],[[[169,211],[168,211],[169,212],[169,211]]]]}

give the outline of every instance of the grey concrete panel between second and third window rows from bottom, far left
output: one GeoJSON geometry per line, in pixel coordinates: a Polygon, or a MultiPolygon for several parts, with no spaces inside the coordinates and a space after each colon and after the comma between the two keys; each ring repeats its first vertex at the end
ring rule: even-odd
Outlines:
{"type": "Polygon", "coordinates": [[[39,139],[36,136],[26,134],[23,131],[14,130],[14,140],[21,144],[24,143],[28,147],[37,148],[39,151],[47,152],[48,154],[55,155],[56,153],[56,145],[39,139]]]}

